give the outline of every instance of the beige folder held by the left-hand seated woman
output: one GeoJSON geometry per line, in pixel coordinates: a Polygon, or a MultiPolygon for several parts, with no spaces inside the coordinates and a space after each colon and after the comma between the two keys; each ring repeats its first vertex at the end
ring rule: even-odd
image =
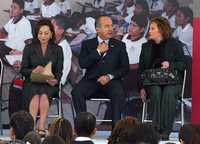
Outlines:
{"type": "Polygon", "coordinates": [[[47,80],[53,79],[54,75],[52,73],[52,63],[49,62],[44,67],[44,72],[42,73],[31,73],[31,81],[32,82],[39,82],[39,83],[46,83],[47,80]]]}

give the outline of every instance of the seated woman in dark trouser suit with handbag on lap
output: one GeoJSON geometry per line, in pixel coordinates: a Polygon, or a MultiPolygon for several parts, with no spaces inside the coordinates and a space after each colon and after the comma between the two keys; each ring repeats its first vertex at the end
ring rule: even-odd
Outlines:
{"type": "MultiPolygon", "coordinates": [[[[151,20],[149,41],[142,45],[139,72],[146,69],[163,68],[184,71],[182,43],[171,37],[171,27],[165,18],[151,20]],[[154,66],[153,66],[154,65],[154,66]]],[[[167,139],[173,126],[179,85],[154,85],[144,87],[139,81],[140,96],[150,97],[153,126],[167,139]]]]}

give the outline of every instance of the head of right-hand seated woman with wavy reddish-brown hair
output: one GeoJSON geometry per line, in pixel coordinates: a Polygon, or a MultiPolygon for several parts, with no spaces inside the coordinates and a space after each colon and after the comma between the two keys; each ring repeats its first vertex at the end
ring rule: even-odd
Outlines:
{"type": "Polygon", "coordinates": [[[169,21],[166,18],[155,17],[150,23],[149,39],[159,43],[170,38],[171,31],[169,21]]]}

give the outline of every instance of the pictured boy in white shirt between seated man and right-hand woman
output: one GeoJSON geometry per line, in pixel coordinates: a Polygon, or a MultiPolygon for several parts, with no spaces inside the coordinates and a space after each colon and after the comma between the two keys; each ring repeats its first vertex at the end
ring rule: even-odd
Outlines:
{"type": "Polygon", "coordinates": [[[129,58],[130,70],[124,78],[124,85],[128,95],[131,92],[137,91],[137,70],[142,44],[147,42],[147,39],[143,36],[147,23],[146,15],[138,14],[133,16],[129,25],[129,31],[122,39],[126,44],[126,51],[129,58]]]}

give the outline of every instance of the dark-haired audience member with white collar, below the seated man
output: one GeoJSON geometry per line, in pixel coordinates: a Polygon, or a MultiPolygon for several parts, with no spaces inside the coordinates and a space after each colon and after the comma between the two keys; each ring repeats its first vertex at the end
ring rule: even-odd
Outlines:
{"type": "Polygon", "coordinates": [[[74,144],[94,144],[91,138],[96,134],[96,118],[89,112],[80,112],[75,118],[74,128],[77,138],[74,144]]]}

